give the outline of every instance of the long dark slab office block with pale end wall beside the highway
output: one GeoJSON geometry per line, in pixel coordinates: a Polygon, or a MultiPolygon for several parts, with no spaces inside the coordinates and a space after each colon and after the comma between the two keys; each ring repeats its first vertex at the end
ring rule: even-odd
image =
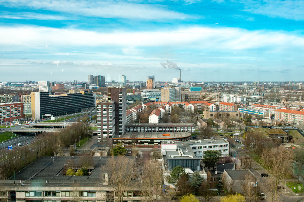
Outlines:
{"type": "Polygon", "coordinates": [[[50,96],[47,92],[31,93],[32,117],[39,120],[42,116],[59,116],[95,109],[96,94],[87,91],[50,96]]]}

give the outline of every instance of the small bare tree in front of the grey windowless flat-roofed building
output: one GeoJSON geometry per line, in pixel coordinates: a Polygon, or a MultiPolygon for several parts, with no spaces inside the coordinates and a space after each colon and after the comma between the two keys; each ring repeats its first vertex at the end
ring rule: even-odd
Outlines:
{"type": "Polygon", "coordinates": [[[243,193],[249,202],[254,200],[255,196],[257,196],[257,187],[255,186],[256,180],[257,179],[253,177],[251,173],[242,176],[240,180],[243,193]]]}

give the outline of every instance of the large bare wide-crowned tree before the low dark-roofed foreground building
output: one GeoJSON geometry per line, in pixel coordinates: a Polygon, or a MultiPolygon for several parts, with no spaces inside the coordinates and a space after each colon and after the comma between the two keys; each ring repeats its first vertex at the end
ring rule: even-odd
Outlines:
{"type": "MultiPolygon", "coordinates": [[[[125,193],[136,187],[137,173],[135,158],[111,157],[102,170],[109,174],[109,185],[115,190],[115,201],[123,202],[128,196],[125,193]]],[[[111,196],[112,197],[112,196],[111,196]]]]}

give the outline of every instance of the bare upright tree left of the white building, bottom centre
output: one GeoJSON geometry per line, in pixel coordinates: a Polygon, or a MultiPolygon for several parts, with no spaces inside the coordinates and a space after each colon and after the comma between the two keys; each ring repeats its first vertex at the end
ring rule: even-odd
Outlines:
{"type": "Polygon", "coordinates": [[[162,194],[162,182],[163,182],[163,171],[161,169],[161,163],[158,160],[149,160],[143,166],[143,187],[144,191],[147,192],[149,187],[153,187],[155,201],[157,202],[158,197],[162,194]]]}

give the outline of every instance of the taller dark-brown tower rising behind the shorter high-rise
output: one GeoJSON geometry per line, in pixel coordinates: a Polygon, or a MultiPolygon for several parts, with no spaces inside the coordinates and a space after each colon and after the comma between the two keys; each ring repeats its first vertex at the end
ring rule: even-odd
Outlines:
{"type": "Polygon", "coordinates": [[[126,86],[108,87],[108,102],[114,102],[114,136],[125,133],[126,89],[126,86]]]}

